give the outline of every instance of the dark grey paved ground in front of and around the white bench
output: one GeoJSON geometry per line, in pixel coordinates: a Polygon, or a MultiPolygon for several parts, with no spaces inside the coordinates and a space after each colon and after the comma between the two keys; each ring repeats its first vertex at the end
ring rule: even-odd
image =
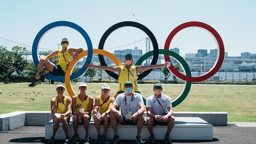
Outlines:
{"type": "MultiPolygon", "coordinates": [[[[228,126],[214,126],[213,140],[173,140],[173,144],[194,143],[194,144],[256,144],[256,127],[237,126],[237,123],[228,124],[228,126]]],[[[243,123],[245,124],[245,123],[243,123]]],[[[254,126],[254,125],[252,125],[254,126]]],[[[8,133],[0,133],[0,144],[20,143],[20,144],[44,144],[45,127],[24,126],[18,129],[8,131],[8,133]],[[31,132],[35,133],[31,133],[31,132]],[[28,133],[24,133],[28,132],[28,133]]],[[[147,138],[145,138],[147,139],[147,138]]],[[[56,144],[63,144],[63,140],[56,140],[56,144]]],[[[84,140],[80,140],[77,144],[85,144],[84,140]]],[[[148,142],[146,142],[148,143],[148,142]]],[[[162,140],[155,140],[154,144],[164,144],[162,140]]],[[[87,143],[88,144],[88,143],[87,143]]],[[[92,142],[91,144],[95,144],[92,142]]],[[[119,144],[135,144],[135,140],[121,140],[119,144]]]]}

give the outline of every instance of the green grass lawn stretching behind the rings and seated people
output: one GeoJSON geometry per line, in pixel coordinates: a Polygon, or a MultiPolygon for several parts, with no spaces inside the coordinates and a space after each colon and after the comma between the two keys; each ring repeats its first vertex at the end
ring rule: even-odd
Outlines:
{"type": "MultiPolygon", "coordinates": [[[[13,111],[50,111],[50,99],[56,96],[56,85],[45,83],[30,88],[27,83],[0,83],[0,114],[13,111]]],[[[93,98],[100,95],[102,83],[87,85],[87,94],[93,98]]],[[[78,93],[78,83],[73,83],[72,86],[78,93]]],[[[118,85],[111,83],[109,86],[113,96],[118,85]]],[[[153,94],[152,86],[153,84],[139,84],[144,98],[153,94]]],[[[184,85],[163,84],[163,93],[174,100],[183,87],[184,85]]],[[[66,91],[65,95],[68,95],[66,91]]],[[[228,122],[256,122],[256,86],[192,85],[187,98],[174,107],[174,111],[228,112],[228,122]]]]}

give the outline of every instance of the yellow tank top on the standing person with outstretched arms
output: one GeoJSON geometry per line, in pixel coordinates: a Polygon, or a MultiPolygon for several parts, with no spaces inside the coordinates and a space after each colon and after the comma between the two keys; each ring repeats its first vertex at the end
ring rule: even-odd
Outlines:
{"type": "Polygon", "coordinates": [[[128,72],[128,69],[125,66],[120,67],[120,72],[119,72],[119,76],[118,76],[118,83],[119,83],[118,91],[122,90],[122,91],[125,92],[124,83],[126,81],[132,81],[132,85],[134,86],[134,88],[132,89],[133,92],[134,91],[139,91],[138,88],[137,88],[137,83],[135,81],[135,80],[138,79],[136,66],[132,65],[129,68],[129,71],[130,72],[128,72]]]}

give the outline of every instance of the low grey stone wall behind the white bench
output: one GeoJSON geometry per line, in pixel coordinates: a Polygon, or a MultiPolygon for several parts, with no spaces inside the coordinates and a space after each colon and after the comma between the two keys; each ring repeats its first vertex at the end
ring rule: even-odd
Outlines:
{"type": "MultiPolygon", "coordinates": [[[[144,116],[147,116],[144,113],[144,116]]],[[[174,117],[199,117],[213,126],[227,126],[227,112],[174,112],[174,117]]],[[[21,126],[45,126],[52,120],[50,111],[17,111],[0,114],[0,131],[21,126]]]]}

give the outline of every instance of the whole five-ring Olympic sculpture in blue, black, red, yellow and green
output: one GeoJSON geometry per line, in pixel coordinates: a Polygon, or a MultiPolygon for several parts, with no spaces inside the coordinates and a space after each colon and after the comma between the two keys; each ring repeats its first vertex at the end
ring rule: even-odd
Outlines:
{"type": "MultiPolygon", "coordinates": [[[[74,79],[82,76],[82,74],[87,70],[87,67],[85,67],[85,65],[83,65],[83,67],[78,72],[76,72],[76,74],[71,75],[71,72],[72,72],[75,64],[82,57],[85,57],[87,55],[87,59],[86,59],[85,63],[90,63],[91,59],[93,57],[93,54],[98,54],[99,61],[100,61],[101,65],[106,66],[106,62],[104,61],[104,57],[103,57],[103,56],[106,56],[106,57],[110,58],[112,61],[114,61],[114,63],[117,66],[122,66],[119,59],[117,59],[117,57],[115,57],[113,54],[103,50],[103,47],[104,47],[104,43],[105,43],[106,39],[113,31],[117,30],[118,28],[125,27],[125,26],[132,26],[132,27],[139,28],[140,30],[144,31],[148,35],[148,37],[151,39],[152,45],[154,48],[153,51],[147,52],[146,54],[142,55],[138,59],[138,61],[135,63],[135,65],[141,65],[141,63],[145,59],[147,59],[148,57],[150,57],[152,55],[153,55],[153,59],[152,59],[152,62],[150,63],[150,65],[155,65],[158,60],[159,54],[164,54],[165,62],[167,62],[167,61],[171,62],[169,56],[173,57],[174,59],[176,59],[177,61],[180,62],[182,68],[184,69],[185,75],[178,72],[174,68],[173,65],[170,65],[168,67],[168,69],[174,74],[174,76],[185,81],[185,86],[184,86],[184,89],[182,90],[181,94],[172,102],[173,107],[179,105],[186,98],[186,96],[189,93],[189,90],[191,88],[191,82],[204,81],[204,80],[210,78],[219,70],[219,68],[221,67],[221,64],[223,63],[223,60],[224,60],[224,44],[221,39],[221,36],[214,28],[212,28],[211,26],[209,26],[208,24],[205,24],[203,22],[186,22],[186,23],[183,23],[183,24],[177,26],[168,35],[168,37],[165,41],[164,50],[161,50],[161,49],[159,50],[158,42],[156,41],[156,37],[154,36],[154,34],[147,27],[145,27],[144,25],[139,24],[137,22],[131,22],[131,21],[119,22],[119,23],[111,26],[102,35],[100,42],[99,42],[98,49],[93,49],[89,35],[87,35],[87,33],[80,26],[78,26],[72,22],[58,21],[58,22],[52,22],[52,23],[46,25],[42,30],[39,31],[39,33],[37,33],[37,35],[33,41],[33,46],[32,46],[32,57],[33,57],[33,61],[34,61],[35,65],[38,65],[38,63],[39,63],[38,49],[39,49],[39,44],[40,44],[41,39],[43,38],[43,36],[45,35],[46,32],[50,31],[52,28],[56,28],[59,26],[68,26],[68,27],[73,28],[73,29],[77,30],[78,32],[80,32],[82,34],[82,36],[84,37],[84,39],[87,43],[87,47],[88,47],[88,50],[85,50],[82,53],[78,54],[78,57],[69,63],[69,68],[65,72],[65,77],[53,76],[52,74],[46,75],[47,78],[52,79],[54,81],[61,81],[61,82],[65,81],[67,92],[68,92],[69,96],[71,96],[71,97],[76,95],[74,90],[72,89],[71,80],[74,80],[74,79]],[[215,65],[213,66],[213,68],[211,68],[211,70],[208,71],[206,74],[204,74],[202,76],[198,76],[198,77],[191,77],[191,72],[190,72],[189,66],[187,65],[186,61],[180,55],[169,50],[170,43],[171,43],[173,37],[176,35],[176,33],[183,30],[184,28],[188,28],[188,27],[198,27],[198,28],[202,28],[202,29],[210,32],[211,35],[213,36],[213,38],[215,39],[217,48],[219,50],[219,55],[217,55],[217,62],[215,62],[215,65]]],[[[108,70],[105,70],[105,71],[112,78],[118,79],[118,75],[115,74],[114,72],[110,72],[108,70]]],[[[152,71],[152,69],[139,74],[138,80],[147,76],[151,71],[152,71]]],[[[145,104],[145,101],[146,101],[145,98],[143,98],[143,101],[145,104]]]]}

